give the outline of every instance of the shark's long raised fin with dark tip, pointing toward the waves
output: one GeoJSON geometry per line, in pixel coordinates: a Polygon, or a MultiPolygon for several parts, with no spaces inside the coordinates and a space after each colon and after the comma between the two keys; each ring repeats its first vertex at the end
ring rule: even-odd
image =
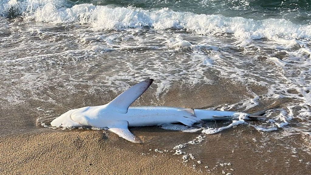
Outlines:
{"type": "Polygon", "coordinates": [[[126,91],[122,92],[118,97],[107,104],[107,107],[113,108],[119,113],[125,114],[128,112],[128,107],[140,97],[151,85],[153,79],[147,79],[135,84],[126,91]]]}

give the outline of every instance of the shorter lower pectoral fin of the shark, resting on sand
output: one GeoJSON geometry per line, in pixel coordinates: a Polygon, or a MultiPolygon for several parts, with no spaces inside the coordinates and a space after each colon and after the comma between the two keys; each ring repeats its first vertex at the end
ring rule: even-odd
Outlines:
{"type": "Polygon", "coordinates": [[[119,137],[122,137],[125,140],[131,141],[133,143],[142,143],[139,138],[136,138],[135,135],[128,130],[128,121],[120,120],[117,121],[114,125],[109,127],[109,131],[116,133],[119,137]]]}

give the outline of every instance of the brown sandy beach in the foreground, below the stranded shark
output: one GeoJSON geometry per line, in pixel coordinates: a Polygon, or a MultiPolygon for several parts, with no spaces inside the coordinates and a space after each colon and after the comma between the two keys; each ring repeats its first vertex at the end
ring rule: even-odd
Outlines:
{"type": "Polygon", "coordinates": [[[307,175],[311,167],[311,155],[303,150],[310,151],[311,144],[299,136],[284,141],[249,127],[236,127],[208,135],[207,141],[199,145],[199,152],[195,147],[198,145],[183,149],[195,157],[183,163],[180,155],[171,152],[172,146],[191,139],[195,133],[156,127],[131,131],[145,143],[133,144],[108,131],[95,130],[58,130],[1,137],[0,171],[1,174],[307,175]],[[243,137],[234,133],[241,133],[243,137]],[[169,152],[165,152],[166,149],[169,152]],[[197,160],[201,160],[201,164],[197,160]]]}

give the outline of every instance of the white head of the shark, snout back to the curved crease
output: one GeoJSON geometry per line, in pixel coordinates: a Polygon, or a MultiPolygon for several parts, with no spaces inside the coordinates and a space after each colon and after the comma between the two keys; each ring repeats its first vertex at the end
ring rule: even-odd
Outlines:
{"type": "Polygon", "coordinates": [[[62,115],[54,119],[51,122],[51,125],[54,127],[73,127],[73,128],[82,127],[83,125],[81,125],[81,123],[72,120],[72,114],[79,109],[73,109],[67,111],[66,113],[63,113],[62,115]]]}

